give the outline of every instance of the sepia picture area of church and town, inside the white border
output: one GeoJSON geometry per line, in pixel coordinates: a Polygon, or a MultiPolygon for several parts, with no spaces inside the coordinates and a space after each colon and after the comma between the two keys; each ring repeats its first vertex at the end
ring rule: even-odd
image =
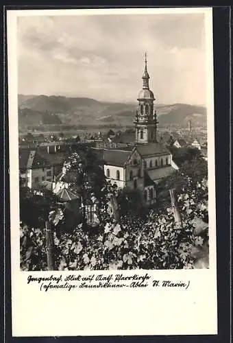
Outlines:
{"type": "Polygon", "coordinates": [[[21,270],[208,268],[204,14],[21,16],[17,46],[21,270]]]}

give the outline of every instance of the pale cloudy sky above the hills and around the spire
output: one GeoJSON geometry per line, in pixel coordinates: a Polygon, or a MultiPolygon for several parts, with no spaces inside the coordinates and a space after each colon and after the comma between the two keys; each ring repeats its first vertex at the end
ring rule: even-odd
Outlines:
{"type": "Polygon", "coordinates": [[[18,93],[206,104],[204,14],[19,16],[18,93]]]}

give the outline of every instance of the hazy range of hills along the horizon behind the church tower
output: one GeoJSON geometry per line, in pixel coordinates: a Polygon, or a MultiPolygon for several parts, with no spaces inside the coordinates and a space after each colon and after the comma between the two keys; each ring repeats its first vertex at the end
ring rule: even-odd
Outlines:
{"type": "MultiPolygon", "coordinates": [[[[99,102],[87,97],[19,95],[19,127],[40,125],[131,126],[137,104],[99,102]]],[[[188,104],[156,105],[159,124],[206,126],[206,108],[188,104]]]]}

